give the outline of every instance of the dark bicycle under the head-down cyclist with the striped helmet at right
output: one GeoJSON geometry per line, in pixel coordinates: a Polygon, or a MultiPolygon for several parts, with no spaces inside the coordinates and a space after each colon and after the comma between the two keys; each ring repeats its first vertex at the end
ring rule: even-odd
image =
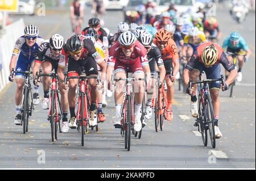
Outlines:
{"type": "Polygon", "coordinates": [[[224,81],[224,76],[221,75],[221,78],[218,79],[205,79],[201,80],[201,74],[199,77],[199,81],[192,82],[191,79],[189,81],[189,90],[191,90],[193,84],[199,84],[200,92],[198,96],[199,100],[199,115],[197,116],[195,127],[198,127],[198,131],[201,133],[203,144],[207,146],[208,144],[208,133],[210,136],[210,142],[212,144],[212,148],[216,147],[216,138],[214,131],[214,112],[212,106],[212,99],[209,94],[209,83],[221,81],[222,85],[226,86],[224,81]]]}

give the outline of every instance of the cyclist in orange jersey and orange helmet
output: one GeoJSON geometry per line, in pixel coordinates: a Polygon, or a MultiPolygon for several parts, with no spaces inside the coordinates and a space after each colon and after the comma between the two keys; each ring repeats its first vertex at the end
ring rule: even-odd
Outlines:
{"type": "Polygon", "coordinates": [[[171,34],[162,28],[155,34],[154,44],[161,50],[164,66],[166,68],[166,84],[167,84],[167,108],[166,119],[171,121],[174,116],[172,114],[172,100],[174,99],[174,81],[176,74],[179,72],[179,54],[177,45],[171,39],[171,34]],[[173,69],[172,69],[173,68],[173,69]],[[171,73],[172,69],[172,73],[171,73]]]}

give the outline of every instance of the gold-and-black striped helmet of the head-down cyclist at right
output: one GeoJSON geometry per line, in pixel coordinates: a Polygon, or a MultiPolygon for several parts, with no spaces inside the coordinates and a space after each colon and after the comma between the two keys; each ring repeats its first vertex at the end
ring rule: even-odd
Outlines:
{"type": "Polygon", "coordinates": [[[205,66],[212,66],[217,62],[218,50],[216,49],[214,44],[211,44],[204,48],[201,59],[205,66]]]}

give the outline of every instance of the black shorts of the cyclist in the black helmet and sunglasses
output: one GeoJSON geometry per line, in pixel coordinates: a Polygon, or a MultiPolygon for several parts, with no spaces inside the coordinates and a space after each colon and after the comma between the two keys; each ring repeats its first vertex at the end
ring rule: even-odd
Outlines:
{"type": "Polygon", "coordinates": [[[78,74],[81,74],[82,68],[84,68],[85,74],[87,76],[98,75],[97,64],[93,57],[86,57],[79,61],[75,61],[73,58],[69,58],[68,73],[76,72],[78,74]]]}

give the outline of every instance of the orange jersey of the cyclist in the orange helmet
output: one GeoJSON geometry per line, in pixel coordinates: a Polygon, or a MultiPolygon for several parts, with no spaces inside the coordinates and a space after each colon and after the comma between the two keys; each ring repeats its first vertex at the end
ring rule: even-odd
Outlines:
{"type": "MultiPolygon", "coordinates": [[[[154,39],[154,44],[158,45],[157,41],[154,39]]],[[[161,50],[163,60],[172,58],[172,61],[179,60],[179,54],[177,52],[177,45],[174,40],[170,39],[166,45],[166,48],[161,50]]]]}

